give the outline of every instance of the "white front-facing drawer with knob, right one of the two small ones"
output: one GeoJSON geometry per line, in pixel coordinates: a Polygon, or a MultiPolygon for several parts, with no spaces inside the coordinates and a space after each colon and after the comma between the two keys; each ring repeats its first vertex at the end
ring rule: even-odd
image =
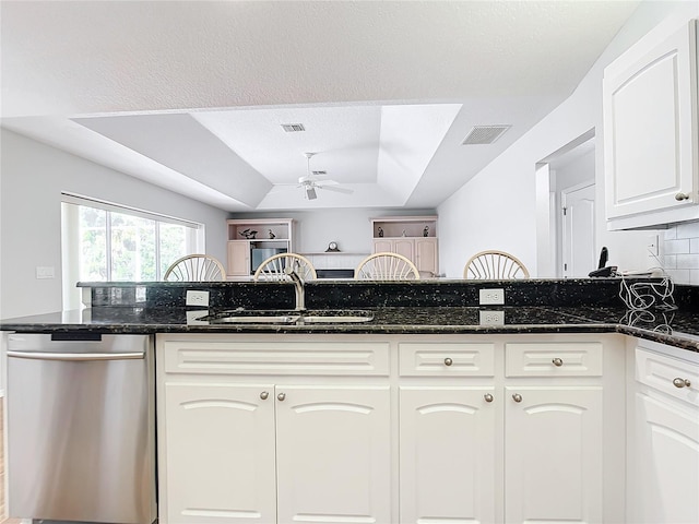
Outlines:
{"type": "Polygon", "coordinates": [[[601,377],[602,343],[505,345],[507,377],[601,377]]]}

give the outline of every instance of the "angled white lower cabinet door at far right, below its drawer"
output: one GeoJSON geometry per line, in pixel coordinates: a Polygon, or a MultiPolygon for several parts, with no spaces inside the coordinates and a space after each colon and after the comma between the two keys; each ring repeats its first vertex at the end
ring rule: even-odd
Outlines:
{"type": "MultiPolygon", "coordinates": [[[[629,515],[639,524],[699,522],[699,409],[636,395],[637,492],[629,515]]],[[[633,406],[629,406],[633,408],[633,406]]]]}

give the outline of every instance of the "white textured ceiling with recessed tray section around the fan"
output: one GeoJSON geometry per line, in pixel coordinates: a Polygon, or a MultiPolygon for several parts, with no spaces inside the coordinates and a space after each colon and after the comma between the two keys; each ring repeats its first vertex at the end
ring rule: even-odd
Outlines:
{"type": "Polygon", "coordinates": [[[229,211],[434,207],[637,4],[3,0],[2,126],[229,211]],[[512,127],[461,145],[476,124],[512,127]],[[353,194],[305,200],[305,152],[353,194]]]}

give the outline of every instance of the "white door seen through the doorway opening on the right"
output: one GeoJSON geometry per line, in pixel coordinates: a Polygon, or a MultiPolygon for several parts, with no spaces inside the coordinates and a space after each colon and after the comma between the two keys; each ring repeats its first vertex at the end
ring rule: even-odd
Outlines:
{"type": "Polygon", "coordinates": [[[594,183],[576,186],[561,192],[562,276],[587,277],[600,263],[594,247],[594,183]]]}

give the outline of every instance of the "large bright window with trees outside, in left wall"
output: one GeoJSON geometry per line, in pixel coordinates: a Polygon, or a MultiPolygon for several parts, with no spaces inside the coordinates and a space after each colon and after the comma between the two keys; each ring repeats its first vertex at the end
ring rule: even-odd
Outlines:
{"type": "Polygon", "coordinates": [[[64,297],[76,282],[161,281],[177,259],[204,251],[201,224],[70,194],[62,200],[64,297]]]}

